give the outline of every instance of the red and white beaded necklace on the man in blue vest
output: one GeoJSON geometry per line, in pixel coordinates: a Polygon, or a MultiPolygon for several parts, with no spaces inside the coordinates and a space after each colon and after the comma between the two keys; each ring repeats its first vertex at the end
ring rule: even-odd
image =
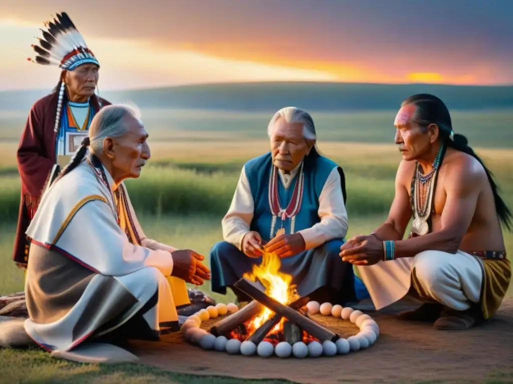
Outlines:
{"type": "Polygon", "coordinates": [[[304,189],[304,178],[303,178],[303,164],[301,163],[301,168],[299,170],[298,178],[295,181],[294,191],[292,193],[292,198],[286,209],[283,209],[280,205],[280,199],[278,195],[278,168],[274,165],[271,168],[271,175],[269,180],[269,208],[271,209],[272,221],[271,221],[271,231],[269,234],[269,239],[274,237],[274,228],[276,226],[276,221],[278,216],[283,221],[287,218],[290,219],[290,234],[294,233],[295,226],[295,216],[298,214],[301,209],[301,201],[303,200],[303,189],[304,189]]]}

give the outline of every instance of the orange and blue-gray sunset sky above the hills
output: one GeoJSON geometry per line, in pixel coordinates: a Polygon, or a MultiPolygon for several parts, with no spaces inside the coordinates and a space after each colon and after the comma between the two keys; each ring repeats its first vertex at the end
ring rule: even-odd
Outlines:
{"type": "Polygon", "coordinates": [[[66,11],[102,89],[313,80],[513,84],[511,0],[2,0],[0,90],[49,89],[30,45],[66,11]]]}

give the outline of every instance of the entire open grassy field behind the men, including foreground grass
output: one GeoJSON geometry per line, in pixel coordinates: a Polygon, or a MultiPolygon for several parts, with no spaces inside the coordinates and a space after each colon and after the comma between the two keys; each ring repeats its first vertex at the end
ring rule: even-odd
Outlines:
{"type": "MultiPolygon", "coordinates": [[[[271,115],[143,110],[152,159],[139,180],[126,184],[147,236],[208,255],[210,247],[222,239],[221,218],[241,167],[268,151],[265,127],[271,115]]],[[[400,160],[397,148],[390,144],[393,116],[394,111],[320,113],[318,119],[314,115],[320,151],[337,161],[346,174],[349,236],[368,233],[386,217],[400,160]]],[[[513,151],[501,149],[513,147],[513,112],[458,112],[454,116],[455,126],[461,127],[457,132],[469,137],[494,172],[506,202],[513,206],[513,151]]],[[[23,290],[24,284],[11,252],[19,204],[15,151],[25,118],[0,114],[0,294],[23,290]]],[[[513,249],[513,235],[505,233],[505,240],[507,249],[513,249]]],[[[209,283],[201,289],[211,294],[209,283]]],[[[231,294],[212,296],[221,302],[233,300],[231,294]]],[[[146,366],[78,365],[35,351],[0,350],[0,366],[4,364],[9,368],[3,369],[3,378],[9,382],[262,382],[176,374],[146,366]]],[[[489,382],[511,380],[510,371],[501,372],[490,376],[489,382]]]]}

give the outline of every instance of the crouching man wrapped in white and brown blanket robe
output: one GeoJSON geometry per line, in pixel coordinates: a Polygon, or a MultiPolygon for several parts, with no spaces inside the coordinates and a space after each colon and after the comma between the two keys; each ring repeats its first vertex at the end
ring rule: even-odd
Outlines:
{"type": "Polygon", "coordinates": [[[150,157],[138,111],[110,105],[44,193],[31,239],[28,335],[49,351],[88,339],[159,339],[177,329],[185,282],[210,279],[203,256],[146,238],[122,183],[150,157]],[[90,145],[90,152],[87,148],[90,145]]]}

